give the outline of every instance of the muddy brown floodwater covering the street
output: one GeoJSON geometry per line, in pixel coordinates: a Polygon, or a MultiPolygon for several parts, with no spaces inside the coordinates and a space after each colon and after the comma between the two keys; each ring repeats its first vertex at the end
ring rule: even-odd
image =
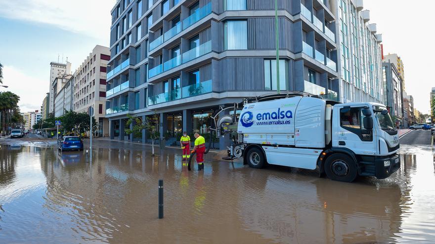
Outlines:
{"type": "Polygon", "coordinates": [[[188,172],[180,151],[158,152],[98,148],[88,162],[83,152],[0,145],[0,243],[435,242],[428,147],[402,147],[388,179],[353,183],[212,153],[204,171],[188,172]]]}

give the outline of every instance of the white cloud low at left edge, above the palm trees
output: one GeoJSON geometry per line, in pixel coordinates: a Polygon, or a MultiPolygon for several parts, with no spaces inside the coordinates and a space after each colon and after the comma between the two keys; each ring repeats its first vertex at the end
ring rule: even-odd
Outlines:
{"type": "MultiPolygon", "coordinates": [[[[20,96],[21,112],[40,110],[44,95],[48,91],[48,82],[29,76],[12,66],[3,67],[3,84],[9,86],[6,91],[20,96]]],[[[4,90],[2,90],[4,91],[4,90]]]]}

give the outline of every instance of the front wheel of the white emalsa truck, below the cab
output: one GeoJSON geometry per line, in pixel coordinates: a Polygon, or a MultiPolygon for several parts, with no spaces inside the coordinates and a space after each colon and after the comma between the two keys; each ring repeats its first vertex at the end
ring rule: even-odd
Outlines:
{"type": "Polygon", "coordinates": [[[325,173],[328,178],[343,182],[352,182],[358,174],[353,159],[343,153],[333,154],[326,159],[325,173]]]}

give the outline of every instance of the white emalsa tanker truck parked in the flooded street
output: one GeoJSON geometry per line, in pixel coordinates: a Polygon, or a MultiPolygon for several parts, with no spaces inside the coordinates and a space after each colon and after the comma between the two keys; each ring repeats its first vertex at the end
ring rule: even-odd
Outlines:
{"type": "MultiPolygon", "coordinates": [[[[382,104],[295,96],[245,103],[238,120],[234,153],[253,168],[318,168],[351,182],[357,175],[387,178],[400,167],[397,130],[382,104]]],[[[226,122],[217,126],[227,129],[226,122]]]]}

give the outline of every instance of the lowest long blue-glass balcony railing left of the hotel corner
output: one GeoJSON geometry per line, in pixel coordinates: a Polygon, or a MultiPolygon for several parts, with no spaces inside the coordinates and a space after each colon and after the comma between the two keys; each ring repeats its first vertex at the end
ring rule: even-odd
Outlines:
{"type": "Polygon", "coordinates": [[[189,98],[212,92],[212,80],[203,81],[198,84],[185,86],[171,92],[164,92],[156,96],[148,97],[148,105],[166,103],[181,98],[189,98]]]}

